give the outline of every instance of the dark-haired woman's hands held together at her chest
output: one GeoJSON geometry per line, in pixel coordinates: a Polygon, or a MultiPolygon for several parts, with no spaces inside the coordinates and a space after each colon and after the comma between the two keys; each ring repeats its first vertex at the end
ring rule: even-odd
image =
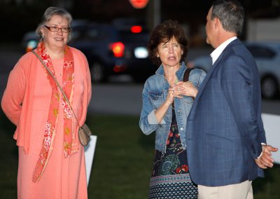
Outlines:
{"type": "Polygon", "coordinates": [[[172,95],[174,97],[182,98],[182,95],[186,95],[189,97],[196,97],[197,96],[197,88],[191,83],[190,81],[179,81],[178,83],[175,83],[170,86],[169,92],[172,90],[172,95]]]}

